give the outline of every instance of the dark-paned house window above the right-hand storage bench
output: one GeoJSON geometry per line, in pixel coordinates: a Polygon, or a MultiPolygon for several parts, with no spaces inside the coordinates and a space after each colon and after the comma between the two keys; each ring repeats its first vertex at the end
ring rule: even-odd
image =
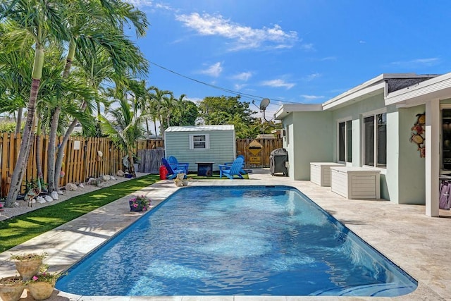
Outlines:
{"type": "Polygon", "coordinates": [[[387,164],[387,114],[364,118],[364,165],[385,167],[387,164]]]}

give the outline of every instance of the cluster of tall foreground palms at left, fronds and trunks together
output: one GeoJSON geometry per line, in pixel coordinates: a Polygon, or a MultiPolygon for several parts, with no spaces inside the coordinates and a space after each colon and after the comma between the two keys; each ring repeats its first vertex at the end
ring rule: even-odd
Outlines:
{"type": "Polygon", "coordinates": [[[64,134],[62,149],[78,122],[93,128],[87,116],[94,104],[100,115],[102,84],[117,84],[125,75],[147,72],[144,56],[124,35],[125,24],[132,25],[140,37],[148,23],[144,13],[125,1],[1,2],[0,108],[17,111],[18,121],[20,110],[26,106],[27,111],[7,207],[18,195],[36,130],[49,133],[48,183],[53,191],[63,158],[54,147],[56,135],[64,134]]]}

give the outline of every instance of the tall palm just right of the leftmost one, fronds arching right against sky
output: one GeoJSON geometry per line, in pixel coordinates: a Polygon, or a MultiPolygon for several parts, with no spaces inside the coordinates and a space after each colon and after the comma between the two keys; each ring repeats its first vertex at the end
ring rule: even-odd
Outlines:
{"type": "MultiPolygon", "coordinates": [[[[123,35],[123,23],[132,23],[137,31],[138,36],[142,36],[147,29],[147,19],[141,11],[136,10],[132,5],[123,1],[69,1],[72,6],[69,10],[73,10],[70,15],[68,23],[70,24],[71,37],[68,49],[68,56],[66,57],[66,66],[64,68],[63,77],[67,78],[70,73],[75,54],[78,60],[85,66],[91,66],[97,63],[92,58],[97,57],[99,49],[103,56],[108,56],[107,60],[113,70],[118,76],[126,74],[140,74],[147,71],[147,61],[142,56],[141,52],[130,39],[123,35]],[[85,4],[86,6],[81,6],[85,4]],[[81,6],[81,7],[80,7],[81,6]],[[82,11],[83,13],[80,13],[82,11]],[[75,13],[76,12],[76,13],[75,13]]],[[[105,62],[105,61],[104,61],[105,62]]],[[[93,75],[93,74],[90,74],[93,75]]],[[[92,76],[89,76],[92,80],[92,76]]],[[[104,80],[104,77],[102,80],[104,80]]],[[[99,88],[101,81],[91,81],[92,87],[99,88]]],[[[97,118],[101,114],[99,97],[96,99],[97,103],[97,118]]],[[[80,110],[84,111],[89,104],[82,103],[80,110]]],[[[56,140],[56,124],[58,123],[61,106],[56,107],[54,118],[51,126],[51,141],[49,142],[49,190],[55,190],[53,185],[57,183],[58,174],[61,171],[63,153],[58,152],[56,163],[54,164],[54,147],[53,143],[56,140]],[[54,179],[54,180],[53,180],[54,179]]],[[[61,142],[61,149],[66,146],[70,133],[75,128],[78,120],[73,119],[68,127],[63,141],[61,142]]]]}

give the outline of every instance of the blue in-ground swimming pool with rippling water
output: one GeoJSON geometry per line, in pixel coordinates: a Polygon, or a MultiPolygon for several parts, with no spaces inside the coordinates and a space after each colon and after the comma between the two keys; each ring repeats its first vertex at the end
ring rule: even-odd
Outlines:
{"type": "Polygon", "coordinates": [[[417,283],[299,190],[188,187],[73,266],[78,295],[396,296],[417,283]]]}

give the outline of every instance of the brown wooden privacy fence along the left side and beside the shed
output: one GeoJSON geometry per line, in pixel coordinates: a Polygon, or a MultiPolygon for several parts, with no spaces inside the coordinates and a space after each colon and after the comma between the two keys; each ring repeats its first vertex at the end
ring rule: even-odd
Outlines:
{"type": "MultiPolygon", "coordinates": [[[[61,151],[58,149],[62,137],[56,141],[56,154],[61,151]]],[[[16,165],[20,142],[22,137],[15,136],[13,133],[0,134],[0,197],[6,197],[9,190],[11,175],[16,165]]],[[[49,137],[41,135],[34,138],[34,143],[30,148],[30,159],[23,175],[23,187],[20,193],[25,190],[25,181],[37,179],[37,160],[42,164],[42,176],[47,182],[47,159],[49,137]],[[38,158],[36,156],[38,150],[38,158]]],[[[140,166],[137,171],[145,173],[158,173],[161,157],[164,156],[163,140],[140,140],[137,141],[137,156],[140,160],[140,166]]],[[[274,149],[283,146],[281,138],[274,139],[237,139],[237,155],[245,156],[246,168],[269,167],[269,154],[274,149]],[[261,145],[258,154],[250,152],[249,145],[257,142],[261,145]],[[259,163],[254,163],[255,158],[259,157],[259,163]]],[[[63,187],[67,183],[85,183],[88,178],[97,178],[101,175],[116,175],[118,170],[124,170],[123,157],[125,152],[114,147],[113,142],[107,137],[70,137],[66,147],[63,149],[64,159],[63,167],[58,183],[63,187]],[[99,151],[101,156],[99,156],[99,151]]],[[[56,155],[55,155],[56,156],[56,155]]]]}

